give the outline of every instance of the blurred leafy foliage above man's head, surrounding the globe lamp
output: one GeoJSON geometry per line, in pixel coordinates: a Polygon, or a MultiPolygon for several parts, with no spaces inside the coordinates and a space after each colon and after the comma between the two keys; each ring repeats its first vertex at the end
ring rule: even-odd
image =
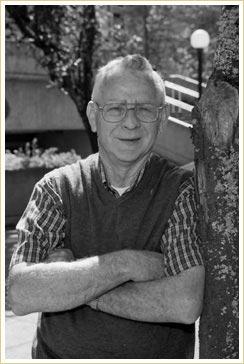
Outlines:
{"type": "Polygon", "coordinates": [[[197,28],[203,28],[211,38],[205,54],[207,78],[212,69],[220,11],[220,6],[212,5],[99,6],[97,18],[103,34],[100,59],[105,63],[111,56],[141,53],[164,77],[178,73],[197,78],[196,54],[190,36],[197,28]]]}

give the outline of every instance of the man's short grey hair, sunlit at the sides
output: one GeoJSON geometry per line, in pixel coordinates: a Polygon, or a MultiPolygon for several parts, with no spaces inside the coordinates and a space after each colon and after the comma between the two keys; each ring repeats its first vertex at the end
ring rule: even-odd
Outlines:
{"type": "Polygon", "coordinates": [[[98,70],[94,81],[92,91],[93,100],[97,97],[99,91],[102,86],[106,84],[109,77],[116,71],[120,71],[121,74],[128,71],[135,76],[146,78],[154,84],[157,93],[162,97],[163,103],[165,103],[165,85],[163,78],[153,69],[151,63],[140,54],[129,54],[125,57],[118,57],[101,67],[98,70]]]}

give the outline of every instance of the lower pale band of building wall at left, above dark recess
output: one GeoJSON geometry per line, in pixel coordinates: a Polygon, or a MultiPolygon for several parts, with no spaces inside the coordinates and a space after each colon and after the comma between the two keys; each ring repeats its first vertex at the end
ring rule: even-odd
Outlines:
{"type": "Polygon", "coordinates": [[[47,84],[45,79],[6,79],[6,98],[10,106],[6,132],[84,130],[70,97],[56,88],[47,88],[47,84]]]}

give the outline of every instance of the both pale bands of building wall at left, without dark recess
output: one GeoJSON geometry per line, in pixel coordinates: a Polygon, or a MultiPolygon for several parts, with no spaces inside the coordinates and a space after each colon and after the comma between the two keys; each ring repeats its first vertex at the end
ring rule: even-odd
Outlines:
{"type": "Polygon", "coordinates": [[[27,45],[7,42],[5,67],[5,96],[10,106],[6,132],[84,130],[70,97],[56,87],[48,87],[47,72],[27,45]]]}

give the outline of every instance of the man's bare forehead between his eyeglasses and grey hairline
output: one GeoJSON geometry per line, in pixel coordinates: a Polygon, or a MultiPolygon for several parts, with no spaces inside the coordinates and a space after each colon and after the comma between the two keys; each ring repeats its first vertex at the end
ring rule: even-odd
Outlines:
{"type": "Polygon", "coordinates": [[[145,73],[116,72],[103,79],[98,98],[103,103],[122,100],[155,103],[159,96],[153,79],[145,73]]]}

